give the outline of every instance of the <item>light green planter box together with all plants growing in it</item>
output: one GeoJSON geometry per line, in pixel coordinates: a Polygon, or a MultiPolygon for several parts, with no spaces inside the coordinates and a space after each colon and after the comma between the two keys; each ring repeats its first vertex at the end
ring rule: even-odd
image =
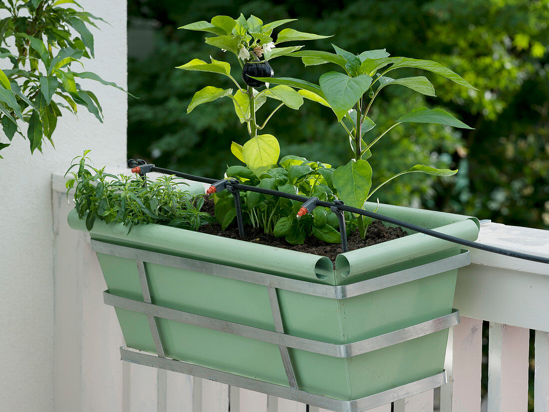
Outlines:
{"type": "MultiPolygon", "coordinates": [[[[335,53],[286,46],[286,42],[327,37],[283,29],[275,40],[273,30],[290,21],[264,24],[255,16],[216,16],[211,22],[183,27],[213,33],[206,43],[236,56],[237,71],[246,84],[237,81],[232,75],[236,71],[225,61],[194,59],[179,67],[216,72],[231,78],[237,87],[236,91],[205,87],[194,95],[188,109],[227,97],[240,122],[246,123],[249,139],[231,146],[242,164],[229,167],[226,177],[284,193],[342,200],[346,205],[475,240],[479,230],[476,218],[367,201],[379,187],[402,174],[449,176],[456,172],[415,165],[372,190],[368,158],[386,133],[368,134],[374,126],[368,117],[373,101],[393,84],[434,95],[427,78],[390,78],[389,72],[416,67],[472,86],[438,63],[393,58],[385,50],[355,55],[337,46],[335,53]],[[305,65],[335,64],[340,70],[323,74],[318,84],[277,78],[271,62],[282,56],[300,58],[305,65]],[[256,112],[268,98],[281,103],[260,121],[256,112]],[[350,143],[352,150],[352,159],[345,165],[332,167],[300,156],[279,159],[277,139],[259,134],[279,107],[298,110],[304,98],[331,108],[337,116],[346,135],[342,140],[350,143]]],[[[404,122],[468,127],[440,109],[416,108],[391,128],[404,122]]],[[[408,233],[339,253],[332,262],[326,256],[201,233],[197,229],[211,221],[200,211],[203,199],[176,187],[170,178],[143,185],[137,177],[106,176],[103,170],[87,167],[85,157],[76,166],[68,182],[68,188],[76,189],[77,205],[69,223],[91,232],[109,288],[105,300],[117,307],[128,347],[342,401],[372,396],[442,372],[447,339],[444,328],[369,350],[366,343],[357,352],[352,348],[356,342],[382,341],[381,335],[398,334],[451,316],[459,265],[440,262],[460,255],[459,245],[408,233]],[[301,286],[295,286],[295,281],[301,286]],[[362,292],[354,293],[353,288],[362,288],[362,292]],[[368,293],[364,288],[369,288],[368,293]],[[139,306],[143,301],[163,309],[139,306]],[[273,307],[279,308],[279,322],[273,307]],[[163,312],[166,308],[175,312],[163,312]],[[210,326],[188,320],[189,313],[210,318],[210,326]],[[220,322],[223,327],[212,326],[220,322]],[[236,334],[234,324],[257,328],[260,336],[266,335],[236,334]],[[291,338],[277,343],[265,331],[285,334],[284,339],[307,340],[311,347],[292,343],[291,338]],[[334,347],[339,352],[330,352],[334,347]]],[[[222,229],[234,225],[233,194],[223,190],[212,197],[215,219],[222,229]]],[[[340,242],[338,220],[329,208],[316,207],[298,217],[300,202],[254,191],[243,191],[241,198],[248,228],[260,228],[289,244],[303,244],[311,237],[327,244],[340,242]]],[[[368,223],[361,216],[345,214],[348,233],[361,239],[368,223]]],[[[281,396],[298,399],[299,393],[281,396]]]]}

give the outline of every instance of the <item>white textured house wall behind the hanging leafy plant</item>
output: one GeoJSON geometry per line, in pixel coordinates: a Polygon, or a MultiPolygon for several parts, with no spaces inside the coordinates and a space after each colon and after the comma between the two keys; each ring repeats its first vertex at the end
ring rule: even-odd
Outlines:
{"type": "MultiPolygon", "coordinates": [[[[126,1],[79,0],[100,22],[96,59],[86,70],[126,88],[126,1]]],[[[74,67],[73,70],[77,70],[74,67]]],[[[85,108],[64,113],[54,133],[55,150],[30,155],[29,142],[14,138],[0,159],[0,410],[54,411],[54,225],[52,172],[92,149],[96,165],[119,170],[126,158],[126,94],[82,81],[102,103],[104,123],[85,108]]],[[[56,412],[63,412],[57,410],[56,412]]],[[[77,411],[74,411],[77,412],[77,411]]]]}

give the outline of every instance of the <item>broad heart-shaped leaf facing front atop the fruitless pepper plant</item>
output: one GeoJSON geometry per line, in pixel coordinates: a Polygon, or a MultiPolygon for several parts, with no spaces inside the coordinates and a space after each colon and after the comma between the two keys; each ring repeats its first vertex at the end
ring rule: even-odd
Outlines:
{"type": "Polygon", "coordinates": [[[366,93],[371,83],[372,77],[368,75],[350,77],[330,71],[320,76],[320,88],[338,121],[341,121],[349,109],[366,93]]]}

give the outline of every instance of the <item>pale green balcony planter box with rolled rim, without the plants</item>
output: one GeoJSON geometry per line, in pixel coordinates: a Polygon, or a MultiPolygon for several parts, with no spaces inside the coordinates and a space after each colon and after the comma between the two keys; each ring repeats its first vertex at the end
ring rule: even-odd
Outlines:
{"type": "MultiPolygon", "coordinates": [[[[378,212],[468,240],[478,236],[472,217],[390,205],[378,212]]],[[[75,211],[69,224],[86,230],[75,211]]],[[[168,358],[289,387],[288,347],[299,391],[343,401],[443,371],[447,328],[457,322],[457,267],[468,258],[459,245],[415,233],[343,253],[333,269],[326,257],[161,225],[126,233],[96,221],[91,238],[107,281],[105,302],[116,307],[128,348],[158,353],[156,326],[168,358]],[[147,294],[136,261],[144,262],[141,280],[152,304],[142,303],[147,294]]]]}

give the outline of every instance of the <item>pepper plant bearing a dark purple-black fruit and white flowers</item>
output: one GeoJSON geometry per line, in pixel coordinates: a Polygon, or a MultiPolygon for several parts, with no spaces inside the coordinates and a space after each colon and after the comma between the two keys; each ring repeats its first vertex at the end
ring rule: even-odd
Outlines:
{"type": "MultiPolygon", "coordinates": [[[[270,62],[281,56],[292,55],[303,46],[284,46],[282,44],[295,41],[306,41],[326,38],[330,36],[315,35],[313,33],[300,32],[294,29],[283,29],[278,32],[276,39],[273,30],[296,19],[277,20],[267,24],[251,15],[248,19],[240,14],[238,19],[229,16],[215,16],[208,21],[197,21],[180,27],[180,29],[196,30],[212,33],[214,36],[206,37],[205,42],[211,46],[222,49],[236,57],[239,71],[242,73],[244,85],[241,85],[231,74],[231,64],[228,61],[216,60],[210,57],[210,63],[204,60],[193,59],[177,69],[189,71],[214,72],[228,77],[234,89],[222,89],[214,86],[206,86],[196,92],[187,108],[190,113],[198,105],[209,103],[223,97],[233,101],[234,111],[240,123],[246,123],[250,139],[243,145],[232,142],[232,153],[242,162],[246,163],[256,176],[275,165],[280,155],[278,140],[272,134],[260,134],[267,122],[282,106],[298,110],[303,104],[303,98],[308,95],[304,91],[295,91],[292,87],[281,84],[272,88],[258,91],[257,88],[268,83],[273,76],[270,62]],[[253,77],[264,77],[258,81],[253,77]],[[267,79],[267,80],[265,80],[267,79]],[[263,122],[258,121],[256,112],[265,103],[267,98],[276,99],[281,103],[267,116],[263,122]]],[[[233,71],[234,72],[234,71],[233,71]]]]}

